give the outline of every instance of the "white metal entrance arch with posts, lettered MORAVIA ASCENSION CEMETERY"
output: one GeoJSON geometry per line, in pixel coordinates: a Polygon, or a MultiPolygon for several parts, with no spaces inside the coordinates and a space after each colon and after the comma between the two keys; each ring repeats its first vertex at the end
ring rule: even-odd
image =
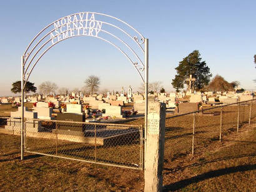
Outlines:
{"type": "MultiPolygon", "coordinates": [[[[71,37],[91,36],[116,47],[135,67],[145,87],[145,142],[147,137],[149,40],[139,31],[113,16],[78,12],[61,17],[44,27],[21,56],[21,160],[24,158],[24,88],[32,70],[46,52],[71,37]],[[144,57],[144,58],[143,58],[144,57]]],[[[145,145],[146,146],[146,145],[145,145]]],[[[145,152],[145,151],[144,151],[145,152]]]]}

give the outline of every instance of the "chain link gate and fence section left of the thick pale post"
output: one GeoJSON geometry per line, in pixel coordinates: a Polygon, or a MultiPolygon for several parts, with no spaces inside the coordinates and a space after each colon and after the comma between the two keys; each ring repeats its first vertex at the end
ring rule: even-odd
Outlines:
{"type": "MultiPolygon", "coordinates": [[[[20,152],[21,118],[0,120],[1,132],[14,138],[4,145],[15,145],[20,152]]],[[[142,170],[142,128],[140,125],[26,118],[25,152],[142,170]]]]}

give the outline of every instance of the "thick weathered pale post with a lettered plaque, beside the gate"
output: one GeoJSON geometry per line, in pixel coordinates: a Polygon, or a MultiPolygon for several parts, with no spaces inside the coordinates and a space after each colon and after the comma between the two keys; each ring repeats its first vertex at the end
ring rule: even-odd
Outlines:
{"type": "Polygon", "coordinates": [[[145,153],[145,192],[162,191],[164,166],[165,103],[150,102],[145,153]]]}

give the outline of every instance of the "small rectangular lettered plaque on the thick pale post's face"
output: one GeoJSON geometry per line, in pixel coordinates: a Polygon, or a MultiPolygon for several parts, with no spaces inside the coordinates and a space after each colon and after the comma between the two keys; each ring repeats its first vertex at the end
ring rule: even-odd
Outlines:
{"type": "Polygon", "coordinates": [[[149,134],[159,135],[159,120],[159,114],[149,113],[147,116],[147,132],[149,134]]]}

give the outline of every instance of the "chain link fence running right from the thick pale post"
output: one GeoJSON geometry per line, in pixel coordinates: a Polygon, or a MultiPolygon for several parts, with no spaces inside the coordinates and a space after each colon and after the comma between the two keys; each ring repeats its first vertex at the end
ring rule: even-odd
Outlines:
{"type": "Polygon", "coordinates": [[[245,123],[256,123],[255,117],[256,99],[167,117],[165,165],[221,141],[224,135],[239,132],[245,123]]]}

